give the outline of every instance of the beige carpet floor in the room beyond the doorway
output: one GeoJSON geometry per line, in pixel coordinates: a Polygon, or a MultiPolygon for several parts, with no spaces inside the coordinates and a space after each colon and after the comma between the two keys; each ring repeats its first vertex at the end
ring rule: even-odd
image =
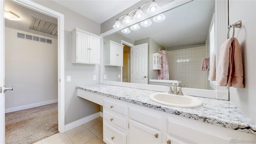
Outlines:
{"type": "Polygon", "coordinates": [[[58,133],[58,103],[5,114],[5,143],[33,144],[58,133]]]}

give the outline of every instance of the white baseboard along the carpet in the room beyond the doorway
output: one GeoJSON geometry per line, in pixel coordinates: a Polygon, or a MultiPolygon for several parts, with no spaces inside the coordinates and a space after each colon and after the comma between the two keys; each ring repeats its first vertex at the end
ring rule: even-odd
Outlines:
{"type": "Polygon", "coordinates": [[[34,107],[38,107],[38,106],[44,106],[46,104],[53,104],[53,103],[56,103],[56,102],[58,102],[58,99],[57,100],[49,100],[49,101],[46,101],[46,102],[38,102],[36,104],[29,104],[29,105],[26,105],[26,106],[18,106],[16,108],[8,108],[8,109],[5,109],[5,113],[15,112],[15,111],[18,111],[18,110],[25,110],[25,109],[28,109],[28,108],[34,108],[34,107]]]}

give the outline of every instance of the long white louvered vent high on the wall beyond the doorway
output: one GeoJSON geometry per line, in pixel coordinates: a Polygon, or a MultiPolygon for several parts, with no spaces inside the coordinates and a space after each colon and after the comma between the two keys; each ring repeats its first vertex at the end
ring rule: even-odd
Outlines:
{"type": "Polygon", "coordinates": [[[17,38],[21,38],[21,39],[26,39],[26,40],[32,40],[32,41],[36,41],[36,42],[42,42],[45,44],[52,44],[52,40],[48,39],[48,38],[41,38],[38,36],[32,36],[29,34],[22,34],[20,32],[17,32],[17,38]]]}

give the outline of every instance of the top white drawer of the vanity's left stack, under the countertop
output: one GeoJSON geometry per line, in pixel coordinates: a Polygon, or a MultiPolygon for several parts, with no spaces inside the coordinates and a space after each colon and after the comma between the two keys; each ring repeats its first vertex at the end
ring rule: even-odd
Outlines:
{"type": "Polygon", "coordinates": [[[126,115],[126,104],[120,103],[120,100],[116,101],[110,101],[110,100],[103,100],[103,106],[105,108],[109,108],[110,110],[113,110],[114,112],[118,112],[120,114],[126,115]]]}

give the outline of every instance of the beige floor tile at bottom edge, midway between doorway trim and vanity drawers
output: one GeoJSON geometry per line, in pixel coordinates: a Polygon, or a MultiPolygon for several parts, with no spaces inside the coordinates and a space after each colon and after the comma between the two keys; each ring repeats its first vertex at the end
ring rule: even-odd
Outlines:
{"type": "Polygon", "coordinates": [[[71,140],[74,144],[84,144],[94,138],[96,135],[93,134],[90,130],[85,130],[75,136],[71,137],[71,140]]]}

